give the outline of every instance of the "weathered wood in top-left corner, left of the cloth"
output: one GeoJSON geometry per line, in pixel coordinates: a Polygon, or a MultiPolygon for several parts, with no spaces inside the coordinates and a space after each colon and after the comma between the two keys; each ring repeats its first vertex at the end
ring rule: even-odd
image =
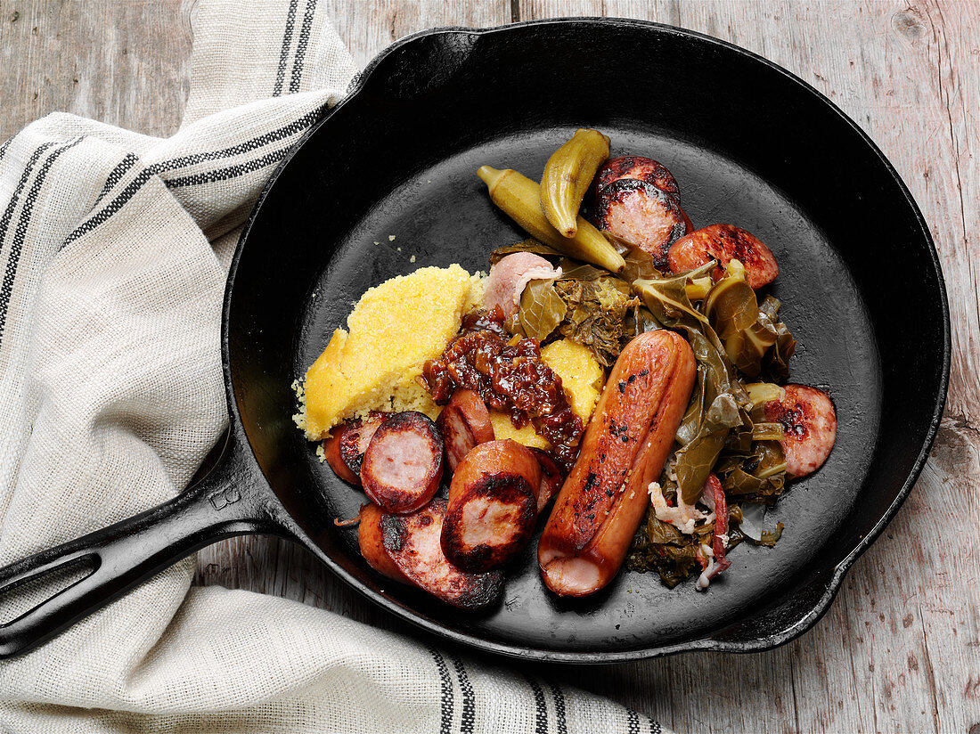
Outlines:
{"type": "Polygon", "coordinates": [[[0,138],[49,112],[172,134],[187,96],[181,0],[0,1],[0,138]]]}

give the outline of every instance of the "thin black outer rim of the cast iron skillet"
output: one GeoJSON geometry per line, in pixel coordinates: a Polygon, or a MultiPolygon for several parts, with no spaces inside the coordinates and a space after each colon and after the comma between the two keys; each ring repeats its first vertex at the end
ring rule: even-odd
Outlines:
{"type": "MultiPolygon", "coordinates": [[[[698,31],[689,30],[686,28],[680,28],[674,25],[659,24],[652,21],[644,21],[640,19],[629,19],[629,18],[601,18],[601,17],[562,17],[562,18],[550,18],[541,19],[533,21],[522,21],[512,24],[495,25],[486,28],[473,28],[463,25],[449,25],[441,27],[427,28],[419,30],[415,33],[406,35],[392,44],[382,49],[376,56],[374,56],[368,66],[365,67],[364,71],[358,73],[348,85],[347,92],[345,96],[337,102],[330,110],[328,110],[319,122],[314,123],[310,129],[303,134],[303,136],[296,141],[296,143],[287,151],[285,156],[276,166],[275,170],[270,174],[269,180],[263,187],[262,192],[256,200],[255,205],[250,212],[248,219],[245,220],[242,231],[238,239],[238,243],[235,246],[235,252],[231,259],[231,264],[228,269],[228,277],[225,284],[224,299],[221,309],[221,371],[224,376],[224,387],[225,396],[228,403],[228,412],[232,418],[231,424],[233,430],[239,434],[240,438],[243,440],[244,444],[248,447],[248,450],[252,453],[255,459],[259,473],[261,474],[261,480],[268,484],[265,473],[262,471],[259,465],[258,458],[255,456],[255,450],[252,447],[251,442],[248,440],[248,436],[245,432],[244,424],[242,418],[238,412],[238,406],[235,400],[235,386],[232,378],[231,370],[231,359],[230,359],[230,338],[229,338],[229,328],[228,323],[230,321],[231,315],[231,303],[234,298],[234,280],[235,274],[238,269],[239,262],[242,257],[242,253],[248,241],[249,233],[252,229],[252,225],[259,215],[263,204],[270,190],[275,185],[276,180],[279,175],[292,161],[293,157],[296,156],[299,151],[303,148],[306,142],[317,133],[319,128],[326,123],[332,115],[340,110],[343,106],[350,103],[351,100],[356,98],[364,89],[368,86],[368,80],[375,73],[378,66],[386,58],[400,50],[401,48],[417,41],[419,38],[442,35],[442,34],[468,34],[468,35],[493,35],[496,33],[507,32],[515,28],[521,28],[526,26],[547,26],[547,25],[569,25],[569,24],[581,24],[581,25],[607,25],[607,26],[620,26],[620,27],[633,27],[640,28],[645,31],[653,31],[657,33],[665,33],[669,35],[681,36],[685,38],[694,39],[709,45],[717,46],[726,51],[734,52],[740,54],[750,61],[760,63],[767,67],[771,71],[782,74],[791,82],[800,86],[804,92],[806,92],[809,97],[813,98],[814,102],[822,104],[827,107],[834,115],[849,126],[854,132],[858,134],[858,138],[867,148],[874,154],[878,162],[883,165],[884,171],[887,171],[891,177],[894,179],[895,183],[898,184],[899,191],[905,197],[905,204],[910,208],[911,213],[914,215],[915,220],[918,222],[919,229],[924,238],[924,243],[926,245],[927,254],[931,259],[933,269],[935,269],[937,285],[939,289],[938,295],[940,296],[940,306],[942,312],[942,328],[943,328],[943,359],[941,366],[940,384],[938,395],[936,396],[933,414],[929,420],[929,425],[926,430],[925,440],[922,442],[921,449],[915,458],[915,461],[907,474],[906,480],[902,487],[895,495],[895,499],[892,501],[891,505],[887,511],[882,514],[878,521],[874,524],[870,531],[858,542],[858,544],[845,556],[840,562],[833,566],[833,572],[829,578],[817,579],[815,583],[817,585],[825,585],[823,593],[820,598],[816,601],[813,608],[803,615],[795,624],[776,633],[764,634],[761,637],[753,640],[725,640],[718,639],[712,635],[724,634],[725,630],[730,629],[733,625],[738,624],[738,621],[731,622],[720,629],[715,630],[711,635],[702,637],[695,640],[687,640],[683,642],[656,646],[656,647],[645,647],[645,648],[633,648],[625,651],[611,652],[589,652],[589,651],[555,651],[555,650],[541,650],[532,647],[520,647],[512,644],[504,644],[499,642],[494,642],[492,640],[486,640],[476,637],[472,634],[466,634],[459,632],[455,629],[448,627],[445,623],[437,622],[429,617],[421,616],[417,612],[411,610],[409,607],[395,602],[394,600],[380,595],[372,590],[370,590],[363,581],[355,578],[353,574],[346,571],[339,563],[335,562],[332,558],[323,553],[319,548],[313,543],[312,540],[307,538],[302,531],[299,530],[295,524],[291,528],[292,532],[295,533],[298,539],[303,542],[307,547],[313,550],[321,563],[325,563],[330,570],[350,584],[354,589],[364,595],[368,600],[374,604],[382,607],[387,612],[394,613],[396,616],[409,621],[418,627],[421,627],[426,632],[435,634],[439,637],[451,640],[456,643],[465,644],[468,647],[475,648],[477,650],[483,650],[498,655],[503,655],[512,658],[528,658],[535,661],[548,661],[548,662],[564,662],[564,663],[614,663],[614,662],[626,662],[626,661],[641,661],[641,660],[651,660],[654,658],[661,658],[667,655],[675,655],[683,652],[695,652],[695,651],[711,651],[711,652],[725,652],[725,653],[751,653],[759,652],[763,650],[771,650],[773,648],[784,645],[806,631],[808,631],[824,613],[830,608],[831,603],[840,591],[841,584],[844,580],[844,576],[852,568],[854,563],[857,562],[858,558],[871,546],[871,544],[878,538],[885,527],[894,519],[895,515],[898,514],[902,505],[905,503],[908,494],[911,492],[912,486],[918,479],[919,474],[922,471],[925,462],[929,458],[930,451],[932,449],[933,442],[935,441],[936,435],[939,430],[940,423],[942,421],[943,411],[946,406],[947,395],[949,391],[950,382],[950,371],[952,365],[952,336],[951,336],[951,323],[950,323],[950,307],[949,298],[946,290],[946,281],[943,277],[943,269],[939,261],[939,253],[936,250],[936,245],[932,237],[932,233],[929,230],[928,223],[922,216],[922,213],[915,202],[914,197],[908,190],[905,181],[902,176],[896,171],[895,167],[888,160],[888,158],[882,153],[875,142],[870,138],[870,136],[860,128],[857,122],[854,122],[843,110],[841,110],[833,101],[828,97],[820,93],[816,88],[810,85],[807,81],[797,76],[794,73],[787,71],[781,66],[761,57],[760,55],[737,46],[728,41],[715,38],[698,31]]],[[[916,239],[918,239],[916,237],[916,239]]],[[[274,493],[273,493],[274,494],[274,493]]],[[[288,513],[287,513],[288,515],[288,513]]],[[[290,520],[292,518],[290,517],[290,520]]],[[[800,590],[807,588],[808,584],[804,584],[798,587],[795,591],[799,593],[800,590]]],[[[751,619],[751,616],[748,617],[751,619]]]]}

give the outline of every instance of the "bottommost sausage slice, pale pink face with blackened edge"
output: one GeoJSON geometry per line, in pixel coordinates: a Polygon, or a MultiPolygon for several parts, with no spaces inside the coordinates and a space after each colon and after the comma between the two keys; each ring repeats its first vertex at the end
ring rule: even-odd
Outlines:
{"type": "Polygon", "coordinates": [[[433,499],[412,514],[390,514],[375,505],[361,511],[358,542],[372,568],[417,586],[463,610],[493,604],[503,591],[503,573],[468,573],[446,559],[439,543],[446,501],[433,499]]]}

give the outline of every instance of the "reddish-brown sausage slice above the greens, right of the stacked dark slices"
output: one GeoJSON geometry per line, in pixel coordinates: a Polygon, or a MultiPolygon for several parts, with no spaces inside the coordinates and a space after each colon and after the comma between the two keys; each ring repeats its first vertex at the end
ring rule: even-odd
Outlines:
{"type": "Polygon", "coordinates": [[[745,266],[749,285],[758,289],[776,279],[779,266],[772,251],[754,234],[734,224],[711,224],[681,237],[670,246],[667,263],[671,272],[685,272],[717,260],[721,274],[732,260],[745,266]]]}

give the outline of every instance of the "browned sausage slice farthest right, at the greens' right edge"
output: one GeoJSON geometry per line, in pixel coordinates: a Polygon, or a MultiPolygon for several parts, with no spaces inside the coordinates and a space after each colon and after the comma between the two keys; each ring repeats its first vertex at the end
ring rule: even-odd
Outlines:
{"type": "Polygon", "coordinates": [[[837,439],[837,413],[834,404],[822,390],[807,385],[789,384],[782,400],[764,405],[765,419],[782,423],[783,454],[786,471],[806,476],[820,468],[837,439]]]}

